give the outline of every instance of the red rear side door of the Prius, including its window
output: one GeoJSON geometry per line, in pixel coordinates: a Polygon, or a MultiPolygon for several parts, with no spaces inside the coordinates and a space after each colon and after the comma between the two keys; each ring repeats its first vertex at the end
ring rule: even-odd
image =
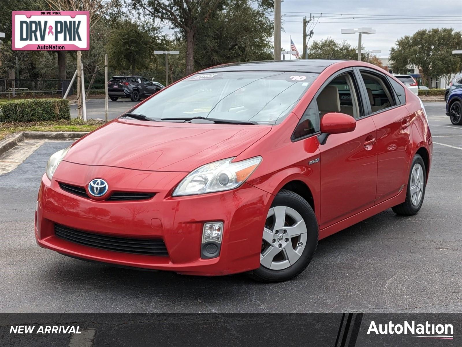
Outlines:
{"type": "Polygon", "coordinates": [[[379,204],[397,195],[407,184],[414,119],[407,111],[405,90],[399,83],[373,69],[356,68],[356,71],[368,114],[377,128],[375,204],[379,204]]]}

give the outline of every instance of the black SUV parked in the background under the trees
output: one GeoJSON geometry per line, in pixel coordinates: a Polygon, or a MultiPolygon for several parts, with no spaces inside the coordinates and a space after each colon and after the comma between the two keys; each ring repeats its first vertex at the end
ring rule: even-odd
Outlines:
{"type": "Polygon", "coordinates": [[[160,83],[141,76],[114,76],[108,82],[108,94],[112,101],[119,98],[140,101],[142,97],[157,93],[162,88],[164,86],[160,83]]]}

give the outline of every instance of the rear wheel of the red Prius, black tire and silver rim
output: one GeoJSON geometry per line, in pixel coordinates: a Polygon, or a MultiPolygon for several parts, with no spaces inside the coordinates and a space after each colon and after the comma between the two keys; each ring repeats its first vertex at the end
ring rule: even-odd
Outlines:
{"type": "Polygon", "coordinates": [[[417,212],[419,212],[420,210],[420,207],[422,207],[422,203],[424,202],[426,180],[427,180],[427,175],[426,175],[424,160],[419,154],[416,154],[414,155],[412,165],[411,165],[411,172],[409,173],[409,179],[407,180],[406,200],[402,204],[392,207],[391,209],[393,210],[393,212],[401,216],[413,216],[417,214],[417,212]],[[413,174],[418,165],[419,165],[419,168],[422,170],[422,175],[420,176],[420,179],[417,181],[417,184],[415,184],[416,181],[415,181],[415,176],[413,177],[413,174]],[[423,178],[423,182],[421,181],[422,178],[423,178]],[[412,189],[412,192],[411,192],[411,189],[412,189]],[[417,194],[417,195],[414,195],[414,194],[417,194]],[[416,200],[414,200],[413,198],[414,196],[418,198],[417,202],[416,200]]]}

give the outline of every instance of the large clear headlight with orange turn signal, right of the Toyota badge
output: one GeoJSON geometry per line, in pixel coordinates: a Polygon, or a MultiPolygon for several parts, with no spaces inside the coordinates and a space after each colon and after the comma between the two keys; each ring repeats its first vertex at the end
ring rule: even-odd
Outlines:
{"type": "Polygon", "coordinates": [[[172,196],[205,194],[237,188],[249,178],[262,158],[231,162],[233,159],[214,161],[195,169],[180,182],[172,196]]]}

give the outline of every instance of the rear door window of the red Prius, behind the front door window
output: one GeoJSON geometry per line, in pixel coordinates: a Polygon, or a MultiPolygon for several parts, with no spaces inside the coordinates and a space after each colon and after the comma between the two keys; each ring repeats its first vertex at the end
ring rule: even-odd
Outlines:
{"type": "Polygon", "coordinates": [[[361,77],[367,91],[371,112],[380,112],[395,106],[392,91],[385,76],[361,71],[361,77]]]}

